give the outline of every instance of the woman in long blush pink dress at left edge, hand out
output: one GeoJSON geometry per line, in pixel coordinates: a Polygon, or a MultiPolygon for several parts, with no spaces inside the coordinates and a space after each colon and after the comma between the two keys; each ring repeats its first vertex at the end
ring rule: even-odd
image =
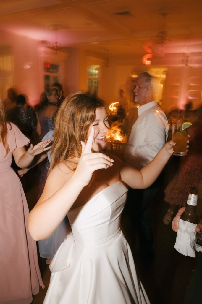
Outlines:
{"type": "Polygon", "coordinates": [[[50,140],[31,145],[26,151],[28,143],[17,126],[5,122],[0,102],[0,303],[4,304],[29,304],[39,286],[44,288],[36,242],[27,227],[25,193],[11,163],[13,156],[20,168],[26,168],[35,155],[49,149],[50,140]]]}

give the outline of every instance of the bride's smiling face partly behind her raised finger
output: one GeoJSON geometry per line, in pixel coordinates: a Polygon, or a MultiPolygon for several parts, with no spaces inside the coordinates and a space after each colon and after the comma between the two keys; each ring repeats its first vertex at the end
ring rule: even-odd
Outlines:
{"type": "Polygon", "coordinates": [[[109,123],[108,123],[108,115],[106,113],[105,108],[97,108],[95,110],[95,120],[89,127],[88,135],[90,133],[91,127],[93,127],[95,130],[92,150],[101,151],[106,149],[107,141],[105,134],[109,129],[109,123]]]}

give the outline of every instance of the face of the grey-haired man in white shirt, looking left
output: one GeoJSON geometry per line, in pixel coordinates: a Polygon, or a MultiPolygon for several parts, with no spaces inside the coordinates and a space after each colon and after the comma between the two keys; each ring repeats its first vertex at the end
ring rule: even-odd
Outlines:
{"type": "Polygon", "coordinates": [[[133,92],[135,93],[135,102],[144,105],[151,101],[152,89],[151,85],[148,85],[146,77],[140,77],[137,79],[136,87],[133,92]]]}

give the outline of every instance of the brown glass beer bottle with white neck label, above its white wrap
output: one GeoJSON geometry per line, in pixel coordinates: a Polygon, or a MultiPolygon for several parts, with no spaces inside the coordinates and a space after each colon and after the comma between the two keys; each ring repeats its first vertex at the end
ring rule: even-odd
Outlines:
{"type": "Polygon", "coordinates": [[[198,189],[196,187],[191,187],[186,203],[186,209],[180,217],[183,221],[190,222],[193,224],[198,224],[197,214],[196,214],[197,197],[198,197],[198,189]]]}

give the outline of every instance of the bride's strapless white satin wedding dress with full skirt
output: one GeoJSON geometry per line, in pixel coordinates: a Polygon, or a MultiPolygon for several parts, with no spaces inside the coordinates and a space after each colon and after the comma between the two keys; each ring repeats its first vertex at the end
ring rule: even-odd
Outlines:
{"type": "Polygon", "coordinates": [[[50,264],[44,304],[149,303],[120,229],[126,198],[117,181],[68,212],[72,233],[50,264]]]}

